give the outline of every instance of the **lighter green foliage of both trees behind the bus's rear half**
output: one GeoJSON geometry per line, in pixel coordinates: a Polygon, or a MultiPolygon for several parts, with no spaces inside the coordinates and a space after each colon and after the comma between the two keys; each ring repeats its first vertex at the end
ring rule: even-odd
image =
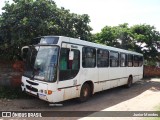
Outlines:
{"type": "Polygon", "coordinates": [[[159,58],[160,33],[154,26],[142,24],[128,27],[127,23],[105,26],[95,35],[95,42],[143,53],[148,61],[159,58]]]}

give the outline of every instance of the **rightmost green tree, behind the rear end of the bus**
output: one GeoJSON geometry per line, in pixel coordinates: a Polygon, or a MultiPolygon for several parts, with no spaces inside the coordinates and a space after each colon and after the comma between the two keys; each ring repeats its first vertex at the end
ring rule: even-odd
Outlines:
{"type": "Polygon", "coordinates": [[[143,24],[134,25],[130,29],[135,42],[135,51],[143,53],[145,59],[149,61],[156,60],[159,56],[160,33],[155,27],[143,24]]]}

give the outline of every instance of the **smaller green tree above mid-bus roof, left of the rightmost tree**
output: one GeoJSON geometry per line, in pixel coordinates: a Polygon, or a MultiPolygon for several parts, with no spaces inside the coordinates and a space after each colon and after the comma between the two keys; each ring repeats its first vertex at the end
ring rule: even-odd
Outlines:
{"type": "Polygon", "coordinates": [[[113,27],[105,26],[100,33],[96,34],[95,42],[128,50],[133,48],[130,34],[131,32],[127,23],[113,27]]]}

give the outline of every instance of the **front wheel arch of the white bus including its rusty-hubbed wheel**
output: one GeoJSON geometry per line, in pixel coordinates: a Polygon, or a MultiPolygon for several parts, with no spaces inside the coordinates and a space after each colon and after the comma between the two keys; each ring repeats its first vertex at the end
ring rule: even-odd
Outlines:
{"type": "Polygon", "coordinates": [[[93,82],[92,81],[86,81],[83,83],[81,90],[80,90],[80,95],[79,95],[79,102],[85,102],[87,101],[91,95],[93,94],[93,82]]]}

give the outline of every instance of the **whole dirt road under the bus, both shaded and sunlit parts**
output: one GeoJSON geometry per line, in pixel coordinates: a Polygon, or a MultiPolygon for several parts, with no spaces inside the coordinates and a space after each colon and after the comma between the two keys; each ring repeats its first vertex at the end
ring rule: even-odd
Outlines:
{"type": "MultiPolygon", "coordinates": [[[[0,100],[1,111],[151,111],[160,104],[160,79],[141,80],[129,89],[113,88],[96,93],[89,101],[62,102],[61,107],[50,107],[37,98],[0,100]]],[[[71,112],[72,113],[72,112],[71,112]]],[[[77,117],[80,118],[80,117],[77,117]]],[[[73,118],[72,119],[77,119],[73,118]]],[[[49,118],[48,118],[49,119],[49,118]]],[[[50,118],[51,119],[51,118],[50,118]]],[[[65,118],[59,118],[65,119],[65,118]]],[[[71,119],[71,118],[68,118],[71,119]]],[[[85,118],[84,118],[85,119],[85,118]]]]}

